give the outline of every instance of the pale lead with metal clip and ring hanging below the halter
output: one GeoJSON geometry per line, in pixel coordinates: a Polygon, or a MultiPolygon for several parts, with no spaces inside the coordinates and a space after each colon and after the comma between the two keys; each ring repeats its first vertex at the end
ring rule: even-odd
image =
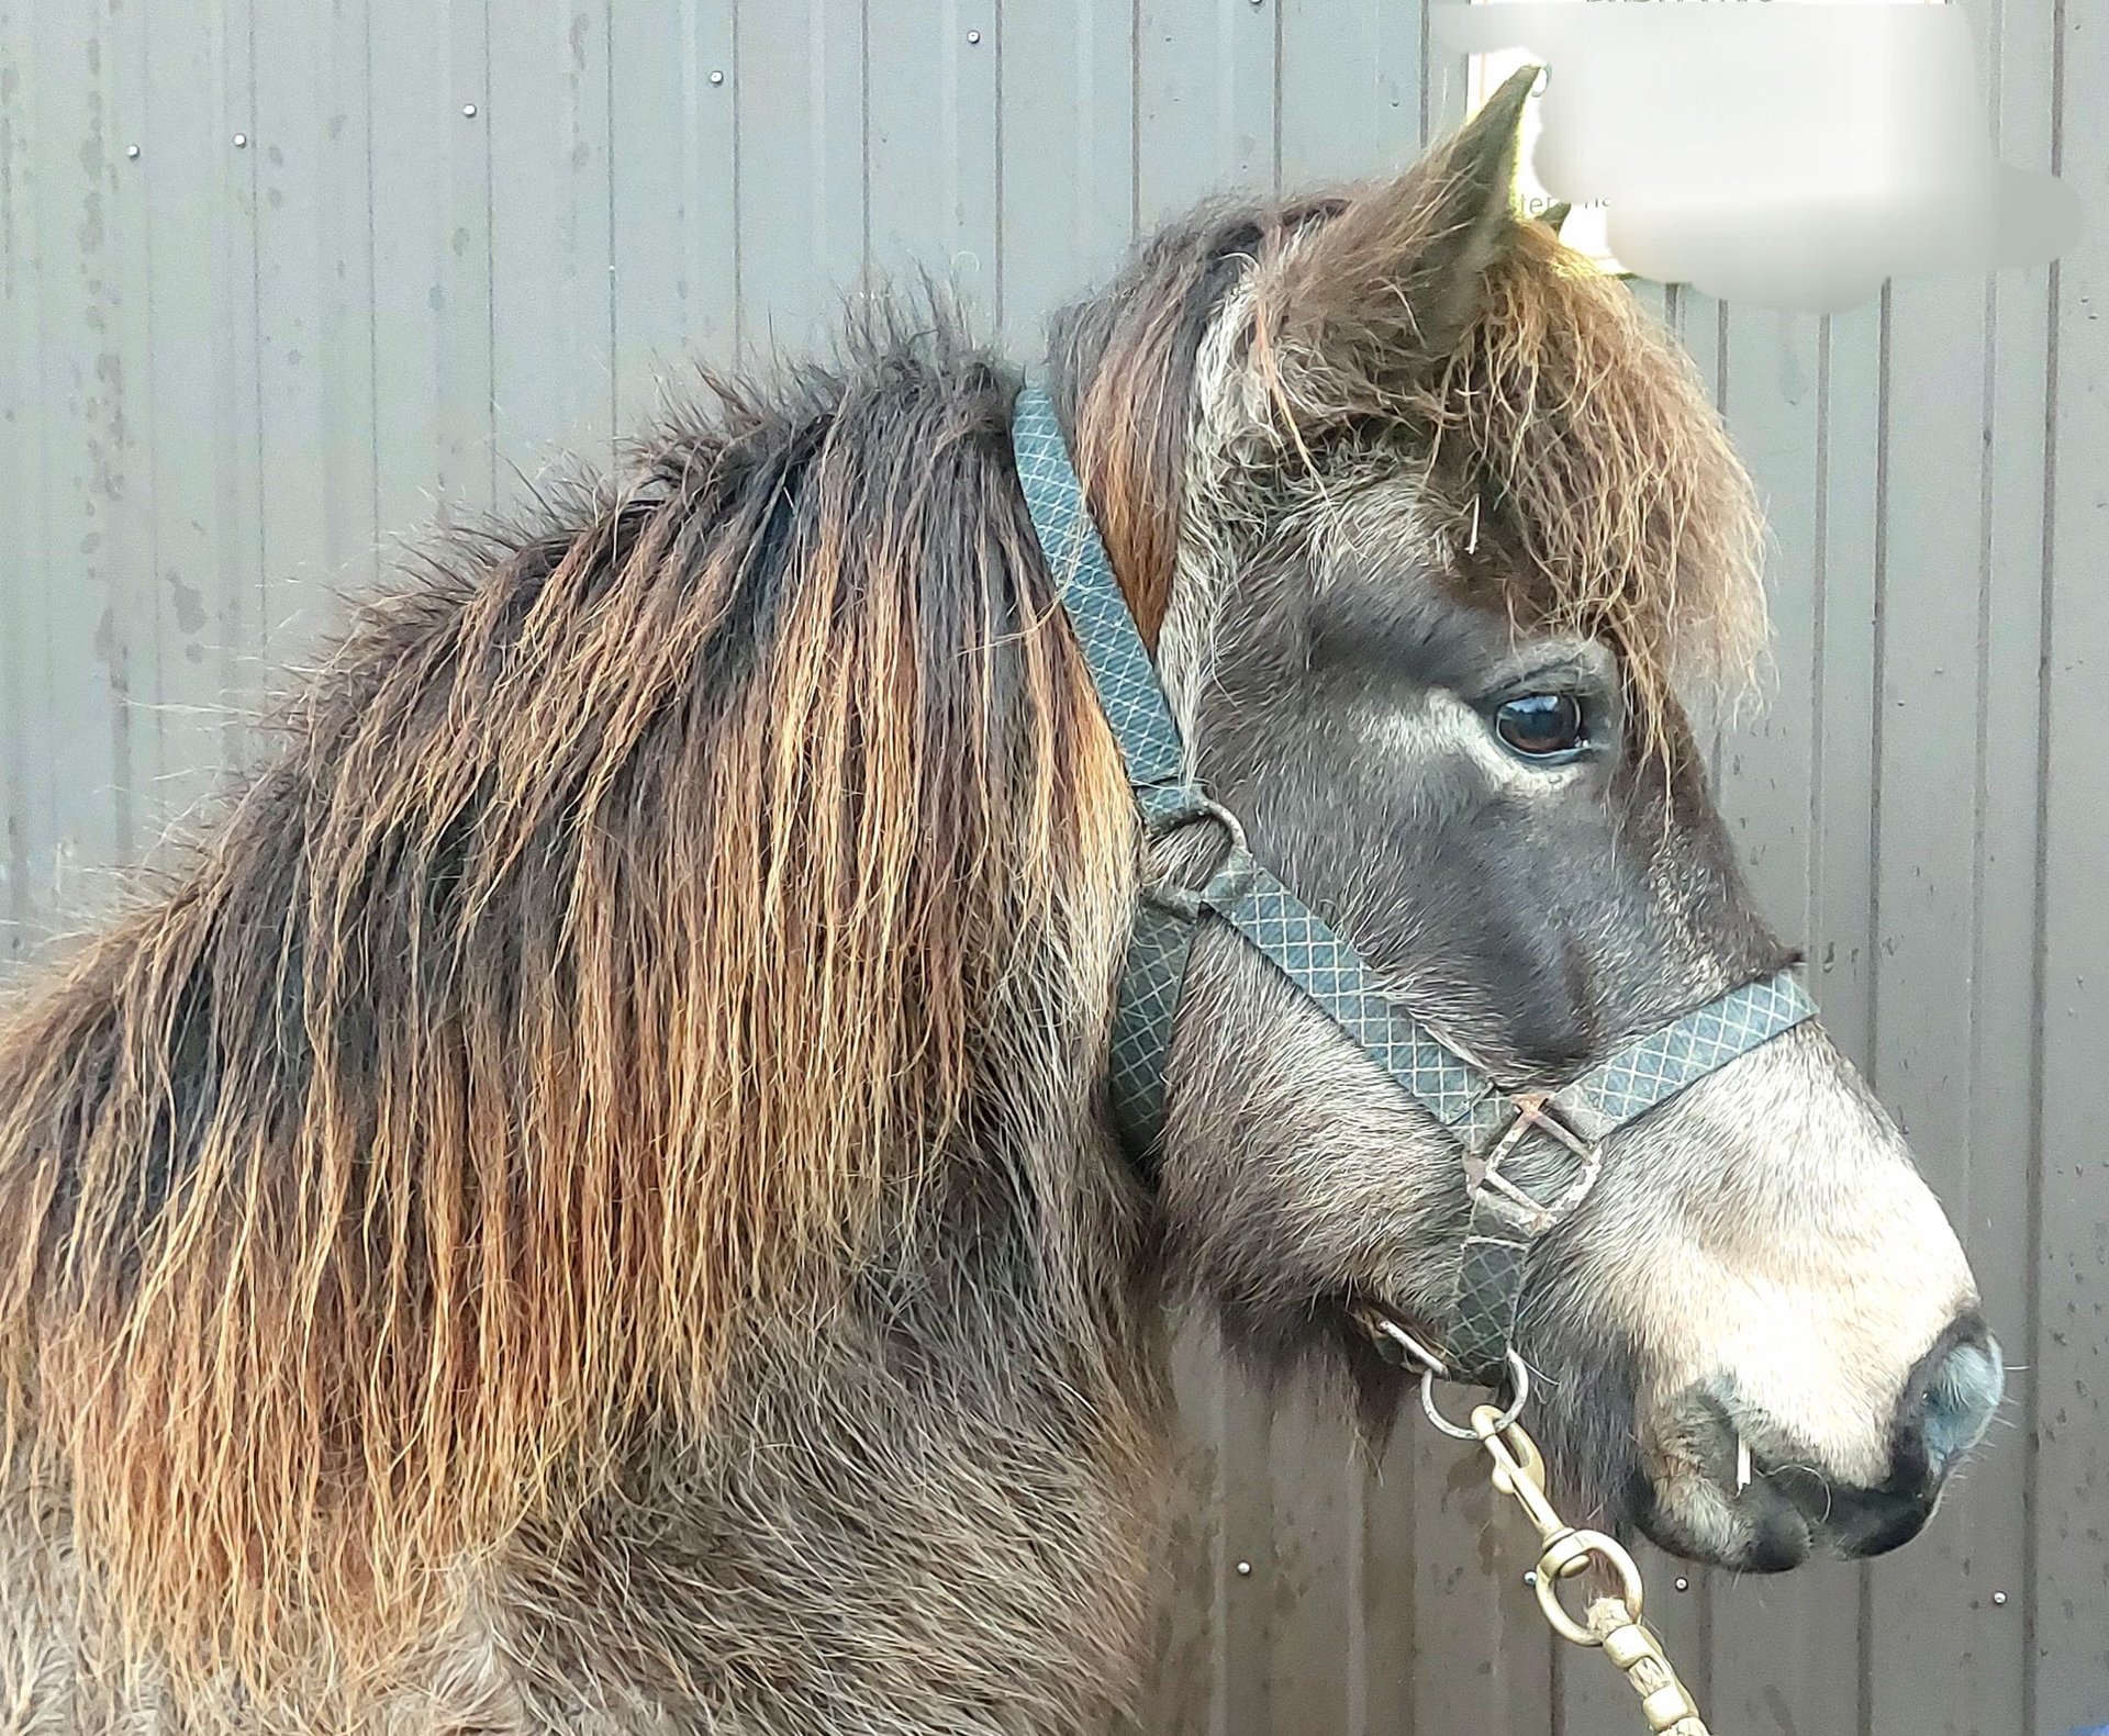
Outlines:
{"type": "Polygon", "coordinates": [[[1641,1717],[1656,1736],[1708,1736],[1700,1709],[1677,1679],[1662,1641],[1641,1624],[1641,1567],[1618,1538],[1603,1531],[1580,1531],[1561,1519],[1546,1498],[1546,1460],[1537,1443],[1508,1413],[1493,1405],[1472,1411],[1472,1439],[1493,1460],[1493,1487],[1523,1508],[1542,1544],[1537,1557],[1537,1607],[1546,1624],[1573,1645],[1594,1645],[1626,1673],[1632,1692],[1641,1696],[1641,1717]],[[1586,1571],[1597,1561],[1618,1580],[1618,1590],[1588,1605],[1588,1620],[1578,1622],[1561,1603],[1561,1582],[1586,1571]]]}

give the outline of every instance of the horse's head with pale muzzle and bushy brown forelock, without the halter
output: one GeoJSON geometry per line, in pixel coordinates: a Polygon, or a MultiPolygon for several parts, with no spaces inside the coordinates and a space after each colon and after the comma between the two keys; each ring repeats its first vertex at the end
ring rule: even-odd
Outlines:
{"type": "MultiPolygon", "coordinates": [[[[1691,711],[1761,648],[1750,485],[1624,287],[1512,215],[1527,82],[1398,179],[1158,236],[1057,378],[1198,783],[1447,1050],[1556,1093],[1793,956],[1691,711]]],[[[1512,1348],[1590,1506],[1738,1569],[1917,1534],[1999,1356],[1822,1029],[1588,1164],[1512,1348]]],[[[1234,1344],[1343,1361],[1392,1413],[1367,1325],[1440,1346],[1459,1143],[1227,922],[1194,943],[1158,1190],[1234,1344]]]]}

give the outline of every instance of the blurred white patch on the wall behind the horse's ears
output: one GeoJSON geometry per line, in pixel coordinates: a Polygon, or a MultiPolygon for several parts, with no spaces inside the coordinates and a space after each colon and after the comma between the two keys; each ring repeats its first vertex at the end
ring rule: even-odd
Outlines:
{"type": "Polygon", "coordinates": [[[1440,4],[1487,57],[1474,97],[1548,67],[1525,202],[1609,270],[1833,312],[1883,278],[2054,259],[2079,234],[2056,177],[1997,160],[1970,21],[1919,0],[1440,4]]]}

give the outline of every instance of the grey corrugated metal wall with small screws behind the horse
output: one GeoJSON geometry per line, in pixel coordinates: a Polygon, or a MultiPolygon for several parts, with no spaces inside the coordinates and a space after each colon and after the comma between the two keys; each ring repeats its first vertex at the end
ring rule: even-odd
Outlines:
{"type": "MultiPolygon", "coordinates": [[[[1649,1563],[1736,1736],[2109,1719],[2109,17],[1970,13],[2001,154],[2092,198],[2075,255],[1837,319],[1651,291],[1778,536],[1744,856],[2025,1365],[1907,1555],[1649,1563]]],[[[1419,0],[0,0],[6,956],[152,850],[327,586],[603,447],[683,352],[804,346],[917,264],[1023,344],[1162,213],[1402,160],[1459,101],[1419,0]]],[[[1637,1728],[1449,1443],[1369,1477],[1187,1365],[1162,1728],[1637,1728]]]]}

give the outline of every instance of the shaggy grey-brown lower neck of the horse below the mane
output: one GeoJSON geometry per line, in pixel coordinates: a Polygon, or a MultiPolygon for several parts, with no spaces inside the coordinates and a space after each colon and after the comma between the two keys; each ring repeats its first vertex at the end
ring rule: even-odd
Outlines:
{"type": "Polygon", "coordinates": [[[962,1702],[1116,1728],[1166,1481],[1141,1223],[1103,1147],[955,1154],[818,1333],[763,1331],[704,1439],[645,1436],[578,1523],[515,1542],[517,1656],[567,1660],[523,1690],[755,1736],[949,1728],[962,1702]],[[766,1692],[740,1658],[772,1660],[766,1692]]]}

